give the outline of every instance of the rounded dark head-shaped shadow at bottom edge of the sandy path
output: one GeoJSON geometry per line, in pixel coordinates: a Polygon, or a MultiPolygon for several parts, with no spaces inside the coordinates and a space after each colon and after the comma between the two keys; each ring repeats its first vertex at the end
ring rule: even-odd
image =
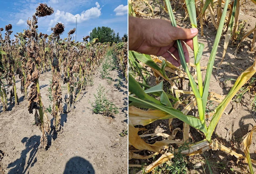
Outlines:
{"type": "Polygon", "coordinates": [[[70,158],[66,163],[63,174],[73,173],[95,174],[91,163],[80,156],[70,158]]]}

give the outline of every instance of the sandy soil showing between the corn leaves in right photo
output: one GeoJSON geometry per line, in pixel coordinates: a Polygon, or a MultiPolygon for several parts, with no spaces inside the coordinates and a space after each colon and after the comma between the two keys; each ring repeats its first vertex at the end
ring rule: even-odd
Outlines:
{"type": "MultiPolygon", "coordinates": [[[[144,12],[146,14],[151,14],[151,11],[149,8],[145,6],[144,3],[140,3],[139,1],[135,2],[135,8],[138,11],[144,12]]],[[[156,3],[157,1],[149,1],[150,4],[154,7],[154,14],[155,18],[161,18],[161,19],[168,19],[169,15],[166,13],[162,7],[156,3]]],[[[171,1],[172,2],[172,1],[171,1]]],[[[163,3],[161,3],[163,5],[163,3]]],[[[190,27],[189,18],[187,20],[184,20],[185,12],[184,9],[181,8],[180,4],[176,2],[175,4],[175,17],[176,22],[181,27],[190,27]],[[184,20],[184,21],[183,21],[184,20]]],[[[143,18],[153,18],[143,16],[143,18]]],[[[244,34],[246,34],[248,31],[250,31],[254,26],[256,22],[256,5],[253,4],[251,1],[243,2],[243,4],[240,7],[240,14],[239,14],[239,22],[245,22],[244,28],[241,30],[243,32],[242,37],[244,34]]],[[[199,23],[198,23],[199,25],[199,23]]],[[[199,25],[200,26],[200,25],[199,25]]],[[[199,28],[199,27],[198,27],[199,28]]],[[[200,31],[200,29],[199,29],[200,31]]],[[[215,27],[209,22],[204,25],[203,28],[204,36],[198,35],[199,42],[202,42],[205,45],[204,52],[200,61],[200,65],[207,66],[207,62],[209,59],[209,55],[211,52],[211,48],[214,43],[214,39],[216,36],[216,29],[215,27]]],[[[224,33],[224,36],[226,36],[226,32],[224,33]]],[[[222,65],[220,66],[219,71],[215,71],[216,69],[213,69],[213,73],[211,76],[210,81],[210,92],[216,92],[220,95],[227,94],[228,91],[231,89],[232,85],[234,84],[234,81],[226,81],[228,78],[236,79],[240,74],[241,71],[238,71],[237,68],[241,69],[247,69],[250,67],[255,59],[255,53],[250,52],[250,43],[252,39],[252,34],[243,41],[243,44],[240,47],[240,51],[238,51],[237,56],[243,57],[244,59],[236,59],[234,57],[234,50],[236,49],[236,46],[231,46],[231,41],[229,43],[226,56],[224,58],[224,61],[222,65]],[[237,68],[235,68],[237,67],[237,68]],[[226,81],[226,82],[225,82],[226,81]]],[[[222,53],[223,53],[223,45],[224,45],[225,37],[221,37],[219,47],[217,50],[216,59],[214,62],[214,66],[217,67],[219,65],[219,62],[221,61],[222,53]]],[[[238,43],[240,40],[238,39],[238,43]]],[[[190,50],[190,55],[192,57],[193,52],[190,50]]],[[[190,59],[193,63],[193,59],[190,59]]],[[[182,68],[182,67],[180,67],[182,68]]],[[[202,77],[204,78],[206,71],[202,71],[202,77]]],[[[186,80],[183,81],[183,85],[178,84],[177,86],[183,86],[184,90],[191,90],[190,86],[187,85],[188,82],[186,80]]],[[[155,81],[152,82],[152,86],[155,85],[155,81]]],[[[240,104],[237,104],[235,102],[231,102],[230,105],[228,105],[227,109],[225,110],[226,114],[223,114],[221,117],[219,123],[217,124],[215,135],[213,135],[213,138],[217,138],[222,144],[224,144],[226,147],[229,147],[230,149],[233,149],[234,151],[241,153],[244,155],[243,152],[243,139],[245,135],[251,131],[252,127],[255,126],[255,122],[251,116],[251,101],[254,95],[246,93],[243,97],[243,102],[240,104]]],[[[217,105],[213,104],[213,109],[217,105]]],[[[195,112],[190,112],[190,115],[194,115],[195,112]]],[[[176,127],[182,127],[182,123],[179,121],[173,121],[173,129],[176,127]]],[[[156,133],[156,132],[162,132],[162,133],[169,133],[168,128],[168,120],[166,121],[155,121],[153,125],[150,127],[146,127],[149,133],[156,133]]],[[[178,133],[176,135],[178,139],[182,140],[182,133],[178,133]]],[[[190,127],[190,141],[191,142],[197,142],[203,139],[202,135],[198,134],[194,128],[190,127]]],[[[158,140],[160,141],[160,140],[158,140]]],[[[256,135],[254,134],[252,136],[252,144],[250,147],[250,155],[252,159],[256,159],[256,135]]],[[[220,151],[208,151],[205,153],[205,155],[209,158],[209,160],[213,163],[213,173],[247,173],[248,172],[248,165],[243,162],[239,162],[237,164],[237,159],[234,156],[230,156],[225,154],[224,152],[220,151]],[[217,165],[219,163],[223,163],[224,166],[218,167],[217,165]],[[217,166],[217,167],[216,167],[217,166]],[[234,171],[231,171],[230,168],[233,168],[234,171]]],[[[157,159],[157,157],[156,157],[157,159]]],[[[202,162],[204,160],[203,155],[198,155],[195,157],[190,157],[188,168],[188,173],[209,173],[208,167],[206,165],[202,165],[199,168],[194,169],[194,165],[202,162]],[[203,167],[206,168],[203,170],[203,167]]],[[[129,163],[133,164],[142,164],[146,163],[147,165],[150,164],[152,161],[129,161],[129,163]]],[[[202,162],[202,164],[205,164],[202,162]]],[[[256,165],[253,164],[254,171],[256,171],[256,165]]],[[[130,168],[131,169],[131,168],[130,168]]],[[[129,170],[129,173],[134,173],[134,170],[129,170]],[[131,172],[130,172],[131,171],[131,172]]],[[[249,172],[250,173],[250,172],[249,172]]]]}

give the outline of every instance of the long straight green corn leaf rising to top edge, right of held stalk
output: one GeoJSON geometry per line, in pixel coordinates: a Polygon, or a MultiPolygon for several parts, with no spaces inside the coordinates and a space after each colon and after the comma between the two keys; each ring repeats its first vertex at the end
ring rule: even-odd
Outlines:
{"type": "Polygon", "coordinates": [[[208,93],[209,93],[209,85],[210,85],[210,77],[211,77],[211,72],[213,70],[213,63],[214,63],[214,59],[216,57],[216,53],[217,53],[217,48],[220,42],[220,37],[222,34],[222,30],[223,30],[223,26],[224,26],[224,21],[225,21],[225,17],[226,17],[226,13],[227,13],[227,8],[228,8],[228,0],[225,3],[223,12],[222,12],[222,16],[220,19],[220,25],[219,28],[217,30],[217,34],[214,40],[214,44],[213,44],[213,48],[211,50],[211,55],[207,64],[207,70],[206,70],[206,75],[205,75],[205,80],[204,80],[204,87],[203,87],[203,96],[202,96],[202,102],[203,102],[203,115],[205,114],[205,108],[206,108],[206,103],[207,103],[207,97],[208,97],[208,93]]]}

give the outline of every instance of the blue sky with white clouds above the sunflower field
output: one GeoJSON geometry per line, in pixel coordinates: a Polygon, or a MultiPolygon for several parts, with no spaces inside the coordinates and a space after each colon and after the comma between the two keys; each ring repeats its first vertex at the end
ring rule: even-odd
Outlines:
{"type": "MultiPolygon", "coordinates": [[[[11,39],[17,32],[26,29],[26,20],[32,17],[38,3],[46,3],[54,9],[53,15],[38,19],[38,31],[43,34],[51,34],[51,27],[57,22],[62,22],[65,32],[61,38],[67,37],[67,32],[76,27],[75,17],[77,41],[82,41],[83,36],[89,35],[89,32],[98,26],[110,27],[115,33],[119,32],[121,37],[128,33],[127,0],[1,0],[0,3],[0,27],[12,24],[11,39]]],[[[72,36],[75,36],[75,33],[72,36]]]]}

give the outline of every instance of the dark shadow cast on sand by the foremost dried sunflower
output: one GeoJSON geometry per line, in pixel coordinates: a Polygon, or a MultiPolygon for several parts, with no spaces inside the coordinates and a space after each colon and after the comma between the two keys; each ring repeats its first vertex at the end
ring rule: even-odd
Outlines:
{"type": "Polygon", "coordinates": [[[26,173],[28,168],[33,166],[33,164],[37,161],[35,158],[36,152],[38,150],[38,146],[40,144],[40,136],[33,135],[32,137],[24,137],[21,140],[22,143],[25,143],[25,149],[21,152],[21,157],[16,159],[14,162],[8,164],[7,168],[12,168],[9,170],[8,174],[21,174],[26,173]],[[29,154],[28,161],[26,162],[26,156],[29,154]]]}

